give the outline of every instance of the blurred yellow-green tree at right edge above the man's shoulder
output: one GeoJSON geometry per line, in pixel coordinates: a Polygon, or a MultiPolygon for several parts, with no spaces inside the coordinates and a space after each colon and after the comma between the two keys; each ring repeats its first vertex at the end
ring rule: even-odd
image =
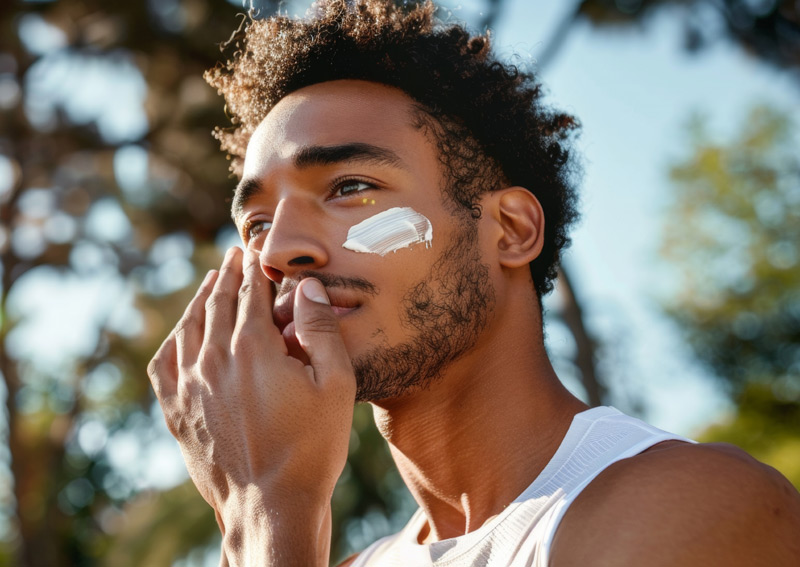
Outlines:
{"type": "Polygon", "coordinates": [[[738,138],[691,125],[672,169],[664,254],[679,272],[668,313],[737,404],[704,440],[733,442],[800,486],[800,157],[785,113],[756,108],[738,138]]]}

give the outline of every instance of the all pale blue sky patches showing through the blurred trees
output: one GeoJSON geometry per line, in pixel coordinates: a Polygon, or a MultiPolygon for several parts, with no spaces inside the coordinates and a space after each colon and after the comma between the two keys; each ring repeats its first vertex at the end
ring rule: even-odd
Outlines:
{"type": "MultiPolygon", "coordinates": [[[[287,2],[284,10],[302,13],[309,3],[287,2]]],[[[442,4],[450,9],[452,19],[475,22],[482,2],[442,4]]],[[[512,62],[535,69],[537,56],[571,6],[571,0],[506,0],[494,29],[495,49],[512,62]]],[[[672,194],[668,169],[686,156],[685,125],[693,113],[705,115],[710,131],[721,141],[736,131],[755,104],[782,108],[800,120],[800,82],[725,41],[697,55],[687,54],[682,46],[684,17],[681,9],[663,10],[643,28],[613,31],[580,23],[540,78],[551,103],[577,115],[583,124],[579,140],[585,161],[583,219],[565,263],[590,329],[611,344],[608,367],[612,384],[619,391],[640,395],[654,425],[691,435],[721,419],[728,408],[714,382],[691,359],[676,329],[660,312],[659,298],[669,297],[675,278],[659,257],[658,248],[664,231],[681,228],[667,214],[672,194]]],[[[40,96],[28,112],[38,116],[46,128],[48,109],[60,105],[76,121],[96,122],[109,141],[137,139],[146,128],[142,107],[146,85],[133,62],[125,54],[112,63],[59,61],[57,50],[64,38],[40,24],[35,19],[23,21],[20,29],[23,32],[27,26],[31,51],[53,56],[36,71],[42,79],[37,91],[40,96]],[[76,67],[67,74],[65,64],[76,67]],[[98,98],[97,93],[106,96],[98,98]]],[[[709,25],[713,26],[713,21],[709,25]]],[[[0,94],[13,102],[17,96],[11,89],[14,85],[0,86],[0,94]]],[[[0,103],[3,100],[0,97],[0,103]]],[[[123,190],[132,199],[143,198],[139,192],[147,179],[146,153],[136,145],[123,145],[117,154],[115,171],[127,180],[122,183],[123,190]]],[[[12,169],[0,155],[0,199],[10,186],[12,169]]],[[[43,200],[45,193],[34,192],[27,206],[45,215],[49,207],[43,200]]],[[[95,207],[92,230],[103,234],[130,230],[116,203],[101,201],[95,207]]],[[[48,230],[67,238],[67,219],[54,217],[47,223],[48,230]]],[[[8,237],[0,227],[0,245],[8,237]]],[[[220,239],[221,248],[229,244],[235,242],[220,239]]],[[[91,256],[96,251],[78,247],[75,253],[91,256]]],[[[150,282],[153,286],[164,288],[168,285],[164,282],[182,286],[193,280],[191,242],[165,240],[153,254],[154,262],[163,264],[163,277],[156,274],[150,282]],[[164,282],[159,283],[160,277],[164,282]]],[[[119,281],[102,257],[94,264],[85,260],[80,264],[88,266],[87,273],[65,278],[45,269],[14,290],[10,314],[25,313],[27,320],[9,337],[10,351],[57,373],[62,356],[81,356],[91,350],[97,322],[109,313],[111,327],[123,335],[135,336],[141,330],[143,321],[133,304],[132,285],[119,281]],[[67,322],[69,329],[65,329],[67,322]]],[[[556,308],[557,302],[556,294],[550,307],[556,308]]],[[[570,351],[570,338],[563,329],[553,325],[548,332],[552,352],[570,351]]],[[[569,369],[561,370],[568,385],[575,387],[569,369]]],[[[113,368],[101,367],[96,376],[86,380],[84,393],[102,396],[103,388],[114,383],[113,368]]],[[[157,413],[153,408],[153,414],[157,413]]],[[[165,488],[183,480],[186,473],[176,444],[163,429],[163,424],[159,431],[142,433],[134,428],[109,438],[99,421],[89,419],[79,428],[78,442],[90,454],[106,447],[112,463],[127,470],[136,486],[165,488]],[[149,456],[157,454],[158,459],[137,458],[144,450],[137,435],[146,438],[149,456]],[[143,464],[131,468],[133,462],[143,464]],[[162,466],[148,468],[146,463],[152,462],[162,466]],[[165,470],[165,462],[174,466],[165,470]]]]}

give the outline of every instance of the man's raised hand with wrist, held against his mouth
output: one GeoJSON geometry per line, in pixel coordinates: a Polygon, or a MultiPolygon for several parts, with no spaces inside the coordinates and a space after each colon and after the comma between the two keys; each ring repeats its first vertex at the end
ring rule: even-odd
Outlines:
{"type": "Polygon", "coordinates": [[[257,254],[244,256],[243,269],[233,248],[219,274],[209,273],[148,373],[189,474],[217,513],[231,564],[311,565],[286,553],[312,549],[314,563],[327,565],[352,366],[325,288],[310,278],[294,299],[309,364],[289,356],[272,319],[273,286],[257,254]],[[317,539],[287,544],[303,534],[317,539]]]}

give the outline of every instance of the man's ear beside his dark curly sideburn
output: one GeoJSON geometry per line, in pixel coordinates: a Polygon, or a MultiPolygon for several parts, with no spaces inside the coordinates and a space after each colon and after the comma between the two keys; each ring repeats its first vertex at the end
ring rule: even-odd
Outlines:
{"type": "Polygon", "coordinates": [[[535,260],[544,246],[544,212],[539,200],[524,187],[491,193],[492,218],[497,223],[500,264],[519,268],[535,260]]]}

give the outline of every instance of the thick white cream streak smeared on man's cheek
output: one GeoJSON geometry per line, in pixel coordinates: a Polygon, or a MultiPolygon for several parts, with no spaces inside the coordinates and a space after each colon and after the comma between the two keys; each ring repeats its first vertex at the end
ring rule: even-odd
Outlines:
{"type": "Polygon", "coordinates": [[[411,207],[394,207],[351,226],[342,247],[384,256],[418,242],[428,247],[432,241],[431,221],[411,207]]]}

